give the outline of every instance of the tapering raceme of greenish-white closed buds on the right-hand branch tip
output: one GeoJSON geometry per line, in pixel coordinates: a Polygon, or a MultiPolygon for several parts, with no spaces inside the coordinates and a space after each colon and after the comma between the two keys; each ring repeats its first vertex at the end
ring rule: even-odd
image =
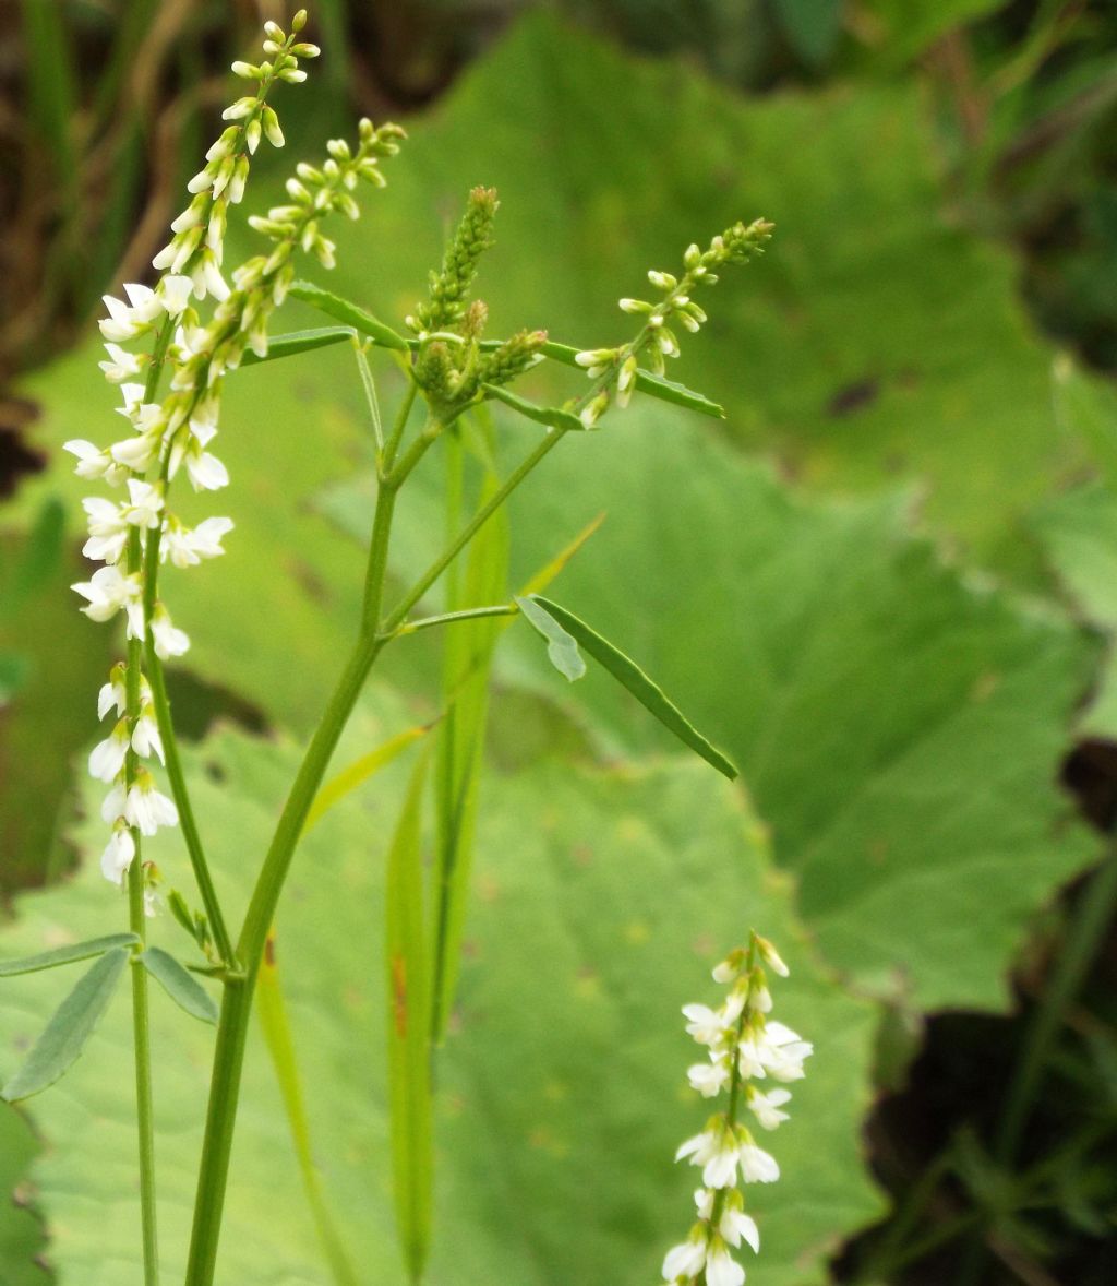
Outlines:
{"type": "Polygon", "coordinates": [[[692,292],[698,285],[713,285],[717,282],[716,269],[724,264],[743,264],[762,253],[765,242],[771,237],[771,226],[764,219],[748,225],[734,224],[715,237],[704,251],[698,246],[689,246],[683,256],[681,280],[671,273],[652,269],[648,280],[663,293],[658,303],[632,298],[620,301],[622,312],[644,318],[644,327],[631,343],[617,349],[586,349],[575,358],[590,379],[602,382],[602,387],[580,412],[586,428],[596,426],[611,401],[616,400],[621,408],[629,405],[636,387],[641,354],[648,355],[653,374],[663,374],[665,359],[679,356],[679,341],[667,323],[697,333],[707,318],[706,311],[690,298],[692,292]]]}

